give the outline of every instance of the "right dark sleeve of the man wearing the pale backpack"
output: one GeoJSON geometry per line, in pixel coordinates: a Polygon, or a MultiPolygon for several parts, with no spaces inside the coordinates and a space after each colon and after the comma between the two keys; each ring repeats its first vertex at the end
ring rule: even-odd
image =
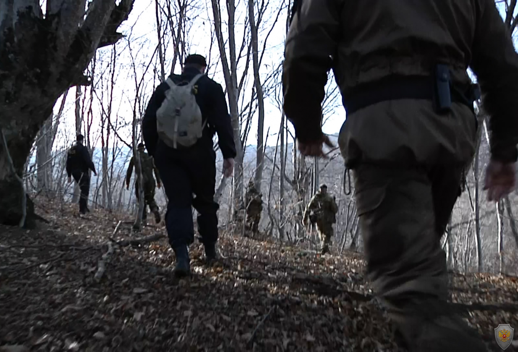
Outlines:
{"type": "Polygon", "coordinates": [[[225,93],[221,84],[215,83],[210,92],[211,113],[207,116],[207,122],[215,129],[218,134],[218,145],[224,159],[236,157],[236,144],[234,143],[234,129],[228,114],[225,93]]]}

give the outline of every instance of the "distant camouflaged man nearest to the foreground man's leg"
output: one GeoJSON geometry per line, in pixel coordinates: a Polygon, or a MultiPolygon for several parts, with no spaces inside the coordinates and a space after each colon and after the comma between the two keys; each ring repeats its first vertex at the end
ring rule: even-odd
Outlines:
{"type": "Polygon", "coordinates": [[[336,213],[338,213],[338,206],[335,197],[331,198],[327,193],[327,186],[323,184],[320,186],[320,192],[317,192],[309,201],[302,220],[304,226],[308,226],[308,219],[311,224],[316,224],[322,254],[329,252],[336,213]]]}

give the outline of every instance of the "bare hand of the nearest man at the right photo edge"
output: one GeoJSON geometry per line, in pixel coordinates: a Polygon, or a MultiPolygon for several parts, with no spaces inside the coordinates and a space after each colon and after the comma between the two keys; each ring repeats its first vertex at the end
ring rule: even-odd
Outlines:
{"type": "Polygon", "coordinates": [[[491,160],[487,165],[484,190],[488,201],[499,201],[512,192],[516,185],[515,163],[503,164],[491,160]]]}

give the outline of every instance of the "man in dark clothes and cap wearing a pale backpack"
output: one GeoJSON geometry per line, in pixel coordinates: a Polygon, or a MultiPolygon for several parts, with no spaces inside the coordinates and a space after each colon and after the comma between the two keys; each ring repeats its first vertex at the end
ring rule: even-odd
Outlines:
{"type": "Polygon", "coordinates": [[[214,201],[218,134],[223,172],[232,174],[236,148],[225,94],[205,73],[205,57],[185,58],[181,75],[171,75],[155,90],[142,120],[146,148],[155,160],[168,198],[165,216],[175,273],[190,273],[188,246],[194,241],[192,208],[207,260],[215,259],[219,204],[214,201]],[[193,199],[193,193],[196,196],[193,199]]]}

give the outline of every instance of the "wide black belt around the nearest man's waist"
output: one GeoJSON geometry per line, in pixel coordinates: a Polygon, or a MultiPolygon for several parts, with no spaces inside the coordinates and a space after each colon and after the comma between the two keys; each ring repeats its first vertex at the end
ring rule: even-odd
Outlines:
{"type": "MultiPolygon", "coordinates": [[[[428,99],[436,101],[436,85],[433,77],[390,76],[382,80],[355,87],[342,98],[348,114],[385,100],[428,99]]],[[[451,102],[459,102],[473,110],[473,101],[480,99],[478,84],[463,87],[450,82],[451,102]]]]}

